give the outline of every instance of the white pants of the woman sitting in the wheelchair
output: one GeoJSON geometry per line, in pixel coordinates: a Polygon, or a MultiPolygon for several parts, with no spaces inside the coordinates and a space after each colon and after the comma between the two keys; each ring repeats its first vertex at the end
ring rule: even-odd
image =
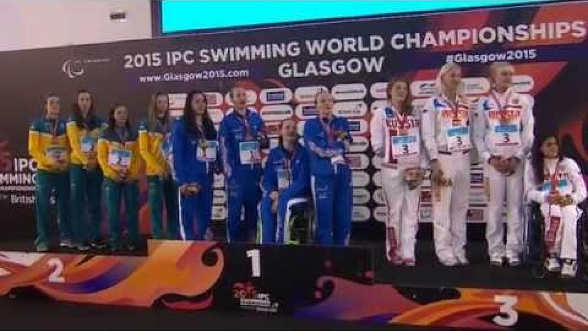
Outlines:
{"type": "Polygon", "coordinates": [[[545,220],[545,241],[547,251],[562,259],[575,260],[577,256],[577,223],[582,211],[575,204],[549,206],[541,204],[545,220]]]}

